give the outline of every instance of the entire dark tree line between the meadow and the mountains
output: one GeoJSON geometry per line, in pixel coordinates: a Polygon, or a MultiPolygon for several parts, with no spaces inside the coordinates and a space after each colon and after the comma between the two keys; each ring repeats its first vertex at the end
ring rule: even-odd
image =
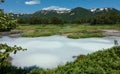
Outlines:
{"type": "Polygon", "coordinates": [[[92,25],[96,24],[119,24],[120,23],[120,13],[117,12],[107,12],[101,14],[94,14],[91,17],[87,18],[70,18],[65,19],[62,17],[38,17],[38,16],[31,16],[30,18],[23,17],[18,18],[18,23],[20,24],[82,24],[82,23],[89,23],[92,25]]]}

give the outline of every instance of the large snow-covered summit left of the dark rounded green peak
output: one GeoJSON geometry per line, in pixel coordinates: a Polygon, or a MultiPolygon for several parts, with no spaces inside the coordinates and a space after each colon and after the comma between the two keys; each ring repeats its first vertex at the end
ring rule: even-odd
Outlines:
{"type": "Polygon", "coordinates": [[[42,11],[56,11],[57,13],[69,13],[71,9],[62,8],[58,6],[50,6],[50,7],[43,8],[42,11]]]}

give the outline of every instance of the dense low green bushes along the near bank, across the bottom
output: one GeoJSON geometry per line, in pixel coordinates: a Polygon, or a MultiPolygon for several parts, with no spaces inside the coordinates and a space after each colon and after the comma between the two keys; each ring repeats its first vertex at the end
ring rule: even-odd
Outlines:
{"type": "MultiPolygon", "coordinates": [[[[3,48],[3,45],[0,45],[0,48],[3,48]]],[[[80,55],[74,62],[54,69],[22,69],[12,66],[10,62],[7,65],[5,61],[1,63],[4,63],[0,67],[2,74],[120,74],[120,46],[80,55]]]]}

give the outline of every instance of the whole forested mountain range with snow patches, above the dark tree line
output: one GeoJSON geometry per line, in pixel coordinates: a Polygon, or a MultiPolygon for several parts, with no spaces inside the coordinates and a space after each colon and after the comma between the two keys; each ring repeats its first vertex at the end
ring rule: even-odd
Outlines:
{"type": "Polygon", "coordinates": [[[120,14],[120,11],[115,8],[95,8],[95,9],[86,9],[82,7],[76,7],[73,9],[61,8],[58,6],[50,6],[47,8],[43,8],[39,11],[34,12],[33,14],[24,14],[24,15],[16,15],[14,14],[14,18],[23,17],[40,17],[40,18],[52,18],[52,17],[60,17],[65,20],[73,20],[74,19],[84,19],[91,18],[97,15],[115,13],[120,14]]]}

